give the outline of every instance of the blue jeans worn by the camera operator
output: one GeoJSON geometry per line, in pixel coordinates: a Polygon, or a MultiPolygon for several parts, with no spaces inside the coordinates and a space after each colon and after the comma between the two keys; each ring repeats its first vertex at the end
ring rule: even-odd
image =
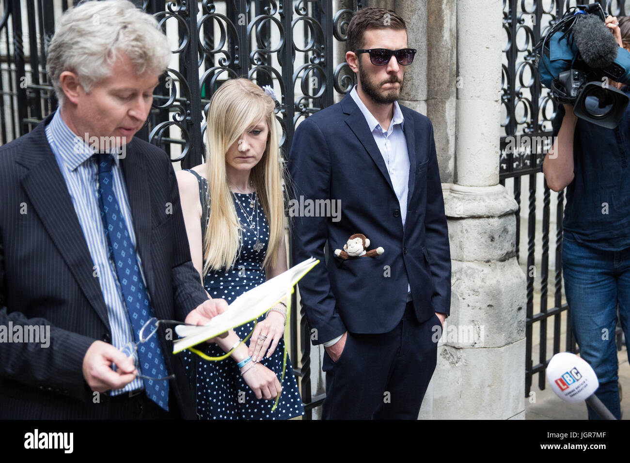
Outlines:
{"type": "MultiPolygon", "coordinates": [[[[599,379],[595,395],[620,419],[615,329],[619,304],[627,348],[630,338],[630,248],[602,251],[565,234],[562,268],[564,294],[580,356],[593,367],[599,379]]],[[[589,420],[599,419],[589,406],[587,408],[589,420]]]]}

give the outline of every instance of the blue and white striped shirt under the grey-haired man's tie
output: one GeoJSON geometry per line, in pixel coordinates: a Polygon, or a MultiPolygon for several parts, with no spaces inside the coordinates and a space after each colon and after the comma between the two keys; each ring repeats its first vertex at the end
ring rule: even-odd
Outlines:
{"type": "MultiPolygon", "coordinates": [[[[107,237],[101,220],[101,210],[98,205],[98,166],[95,157],[93,157],[95,151],[83,141],[82,137],[77,136],[69,129],[61,118],[60,111],[55,112],[49,125],[46,126],[46,137],[66,181],[68,193],[72,198],[74,210],[88,244],[89,253],[92,256],[94,275],[98,276],[105,306],[107,306],[110,331],[112,331],[112,345],[120,349],[125,344],[134,341],[134,334],[129,321],[129,312],[123,303],[115,266],[109,256],[107,237]]],[[[113,188],[135,248],[135,232],[127,188],[125,188],[120,170],[120,159],[118,156],[114,156],[114,159],[115,163],[112,167],[113,188]]],[[[142,273],[142,261],[140,261],[137,250],[136,256],[142,273]]],[[[142,273],[142,280],[144,280],[146,287],[144,273],[142,273]]],[[[135,378],[123,389],[112,391],[112,395],[134,391],[142,387],[142,380],[135,378]]]]}

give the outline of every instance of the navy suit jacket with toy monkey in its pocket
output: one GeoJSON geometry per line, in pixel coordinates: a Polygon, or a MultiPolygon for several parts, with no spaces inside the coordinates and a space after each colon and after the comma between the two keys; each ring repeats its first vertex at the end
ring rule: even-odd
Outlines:
{"type": "Polygon", "coordinates": [[[338,221],[306,213],[293,219],[295,261],[309,256],[321,261],[299,283],[302,306],[317,330],[311,334],[315,344],[346,330],[391,331],[403,316],[408,282],[419,321],[450,312],[449,232],[433,126],[420,113],[400,108],[410,161],[404,227],[381,152],[350,94],[295,131],[289,156],[294,199],[341,202],[338,221]],[[355,233],[370,239],[369,249],[381,246],[384,253],[336,257],[335,249],[355,233]]]}

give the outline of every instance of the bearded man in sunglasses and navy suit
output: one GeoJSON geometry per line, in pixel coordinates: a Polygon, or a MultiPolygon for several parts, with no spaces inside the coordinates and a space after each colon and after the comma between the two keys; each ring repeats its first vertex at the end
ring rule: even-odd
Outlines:
{"type": "Polygon", "coordinates": [[[300,281],[302,306],[325,348],[324,419],[416,419],[450,311],[433,127],[397,101],[416,52],[398,14],[357,11],[348,50],[357,86],[297,127],[289,156],[297,198],[341,202],[334,220],[294,218],[295,261],[326,261],[300,281]],[[357,233],[384,252],[337,257],[357,233]]]}

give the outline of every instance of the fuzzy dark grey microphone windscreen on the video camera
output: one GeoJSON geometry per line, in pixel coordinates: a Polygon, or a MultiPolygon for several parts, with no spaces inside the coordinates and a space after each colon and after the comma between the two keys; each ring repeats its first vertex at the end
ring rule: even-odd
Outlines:
{"type": "Polygon", "coordinates": [[[610,66],[617,57],[617,40],[595,14],[578,18],[573,27],[573,38],[582,59],[592,69],[610,66]]]}

